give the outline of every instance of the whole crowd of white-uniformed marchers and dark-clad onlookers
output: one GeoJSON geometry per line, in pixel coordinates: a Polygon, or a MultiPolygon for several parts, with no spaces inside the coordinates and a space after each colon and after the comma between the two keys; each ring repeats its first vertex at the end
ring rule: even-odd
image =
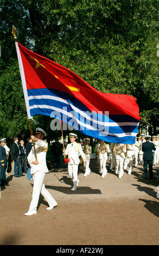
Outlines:
{"type": "MultiPolygon", "coordinates": [[[[34,180],[32,202],[29,211],[25,215],[36,214],[40,193],[48,202],[47,210],[57,206],[56,200],[46,190],[43,183],[45,174],[49,172],[47,165],[48,144],[43,140],[45,136],[44,130],[36,128],[35,136],[30,136],[27,139],[26,146],[24,141],[20,140],[19,142],[17,137],[14,137],[10,148],[7,146],[6,138],[0,141],[0,185],[8,186],[5,174],[12,169],[14,169],[15,178],[20,178],[26,173],[28,180],[34,180]]],[[[68,162],[68,173],[73,183],[71,191],[75,191],[79,182],[78,167],[84,164],[84,177],[91,172],[89,163],[93,150],[89,138],[85,138],[82,144],[76,142],[77,135],[75,133],[70,133],[69,138],[70,143],[66,145],[66,149],[59,142],[52,143],[52,162],[54,163],[53,168],[60,168],[64,155],[64,161],[68,162]],[[68,159],[65,157],[67,155],[68,159]]],[[[107,143],[99,139],[95,145],[95,153],[101,178],[107,175],[106,162],[109,159],[109,169],[114,168],[120,179],[127,167],[129,167],[128,174],[131,174],[133,164],[137,167],[138,163],[143,166],[144,179],[147,179],[149,165],[150,179],[152,179],[152,165],[159,161],[159,137],[152,136],[151,141],[151,136],[142,134],[140,137],[136,137],[134,144],[107,143]]]]}

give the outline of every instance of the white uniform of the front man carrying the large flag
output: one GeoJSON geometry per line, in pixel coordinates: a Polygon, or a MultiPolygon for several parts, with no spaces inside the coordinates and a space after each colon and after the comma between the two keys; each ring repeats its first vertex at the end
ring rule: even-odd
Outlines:
{"type": "Polygon", "coordinates": [[[46,165],[46,152],[47,152],[48,144],[46,141],[41,141],[39,139],[38,142],[35,143],[35,150],[38,165],[33,164],[33,161],[36,161],[34,147],[30,150],[30,153],[27,157],[28,163],[31,167],[30,173],[34,174],[34,186],[33,186],[33,194],[32,194],[32,202],[30,203],[29,212],[36,211],[39,201],[40,193],[47,200],[50,206],[56,205],[57,202],[51,196],[51,194],[46,190],[45,185],[43,183],[45,174],[48,173],[47,165],[46,165]]]}

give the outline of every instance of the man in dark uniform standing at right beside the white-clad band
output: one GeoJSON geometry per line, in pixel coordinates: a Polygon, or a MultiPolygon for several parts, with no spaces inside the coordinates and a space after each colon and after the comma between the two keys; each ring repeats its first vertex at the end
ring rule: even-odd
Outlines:
{"type": "Polygon", "coordinates": [[[144,160],[144,179],[147,179],[147,170],[148,170],[148,164],[149,164],[149,174],[150,174],[150,179],[153,179],[153,170],[152,170],[152,165],[153,165],[153,153],[152,150],[156,150],[154,143],[150,142],[151,136],[146,136],[145,138],[146,142],[142,144],[142,151],[144,153],[143,155],[143,160],[144,160]]]}

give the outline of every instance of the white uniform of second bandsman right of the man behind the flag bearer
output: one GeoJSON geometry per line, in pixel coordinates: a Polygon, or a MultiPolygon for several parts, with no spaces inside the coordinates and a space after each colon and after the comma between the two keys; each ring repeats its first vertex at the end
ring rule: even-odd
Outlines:
{"type": "Polygon", "coordinates": [[[99,143],[97,147],[97,152],[99,152],[99,161],[100,161],[100,173],[102,173],[101,178],[104,178],[107,174],[106,162],[108,159],[107,153],[110,152],[109,144],[103,143],[103,147],[106,147],[105,150],[100,150],[101,144],[99,143]]]}

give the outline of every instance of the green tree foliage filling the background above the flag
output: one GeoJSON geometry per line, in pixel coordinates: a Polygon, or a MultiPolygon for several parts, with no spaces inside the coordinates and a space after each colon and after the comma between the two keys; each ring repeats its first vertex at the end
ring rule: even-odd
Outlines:
{"type": "MultiPolygon", "coordinates": [[[[66,66],[97,90],[136,97],[143,117],[140,126],[148,125],[151,133],[157,133],[158,3],[1,0],[0,135],[28,132],[12,25],[22,45],[66,66]]],[[[50,131],[49,118],[37,116],[35,120],[47,123],[49,136],[60,136],[50,131]]]]}

